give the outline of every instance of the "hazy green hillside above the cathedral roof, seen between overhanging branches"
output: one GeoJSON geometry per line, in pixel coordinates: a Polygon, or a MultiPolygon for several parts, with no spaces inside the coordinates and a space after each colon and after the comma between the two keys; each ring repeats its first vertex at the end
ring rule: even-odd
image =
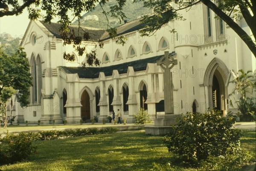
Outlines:
{"type": "MultiPolygon", "coordinates": [[[[103,9],[107,12],[109,11],[109,7],[113,5],[113,1],[108,2],[105,6],[103,6],[103,9]]],[[[125,7],[123,8],[123,12],[126,15],[126,19],[128,21],[135,20],[143,15],[151,14],[152,10],[149,8],[143,7],[143,3],[133,3],[131,0],[128,0],[125,7]]],[[[108,17],[108,20],[106,16],[102,13],[101,6],[97,5],[93,11],[89,11],[85,13],[80,20],[81,26],[85,27],[93,27],[93,28],[101,28],[101,29],[107,29],[107,25],[111,27],[116,27],[118,25],[124,24],[124,21],[120,21],[113,17],[108,17]],[[89,19],[92,17],[93,19],[89,19]],[[84,20],[86,18],[87,20],[84,20]]],[[[78,21],[75,21],[73,23],[74,25],[78,25],[78,21]]]]}

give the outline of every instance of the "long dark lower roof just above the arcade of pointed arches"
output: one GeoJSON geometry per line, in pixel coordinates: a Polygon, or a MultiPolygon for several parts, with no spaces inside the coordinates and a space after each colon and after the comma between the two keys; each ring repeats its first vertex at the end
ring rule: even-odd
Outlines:
{"type": "MultiPolygon", "coordinates": [[[[175,52],[172,52],[175,53],[175,52]]],[[[170,53],[170,54],[172,54],[170,53]]],[[[105,76],[112,76],[113,70],[118,70],[119,74],[127,73],[128,67],[133,67],[134,71],[146,70],[148,63],[157,63],[163,55],[151,58],[140,59],[137,61],[125,62],[122,64],[111,65],[108,67],[64,67],[61,68],[66,73],[77,73],[79,78],[99,78],[99,72],[103,72],[105,76]]]]}

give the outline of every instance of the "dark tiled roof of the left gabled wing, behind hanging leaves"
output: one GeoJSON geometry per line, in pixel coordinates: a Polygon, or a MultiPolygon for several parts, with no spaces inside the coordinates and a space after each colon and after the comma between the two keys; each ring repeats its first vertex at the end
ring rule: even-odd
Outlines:
{"type": "MultiPolygon", "coordinates": [[[[51,23],[47,23],[47,22],[43,22],[40,21],[44,27],[47,28],[47,30],[49,32],[51,32],[56,38],[61,39],[61,32],[60,32],[60,28],[61,25],[55,22],[51,22],[51,23]]],[[[70,25],[69,26],[70,30],[74,29],[75,31],[75,35],[78,35],[78,26],[77,25],[70,25]]],[[[90,39],[89,41],[93,41],[93,42],[98,42],[100,37],[102,36],[102,34],[105,32],[104,30],[99,30],[97,28],[88,28],[88,27],[83,27],[81,26],[79,28],[79,34],[81,36],[84,35],[84,33],[87,32],[90,35],[90,39]]]]}

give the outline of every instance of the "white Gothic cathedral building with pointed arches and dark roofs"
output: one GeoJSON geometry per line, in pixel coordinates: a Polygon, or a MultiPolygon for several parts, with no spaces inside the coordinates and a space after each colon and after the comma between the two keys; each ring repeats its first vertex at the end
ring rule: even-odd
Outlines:
{"type": "MultiPolygon", "coordinates": [[[[100,67],[81,67],[85,55],[79,57],[72,45],[63,45],[57,23],[30,21],[21,47],[31,65],[33,87],[30,104],[21,108],[15,96],[9,104],[9,115],[20,123],[80,123],[99,117],[107,120],[120,109],[122,119],[134,122],[141,107],[152,118],[164,113],[163,70],[157,60],[169,51],[177,59],[172,68],[174,113],[205,112],[207,108],[236,112],[230,108],[229,93],[239,69],[255,71],[255,57],[239,36],[206,6],[183,11],[185,21],[170,21],[152,36],[140,36],[140,19],[119,27],[119,35],[127,37],[124,46],[117,45],[104,30],[82,27],[91,39],[84,41],[87,53],[95,50],[100,67]],[[174,29],[176,33],[170,33],[174,29]],[[104,43],[99,48],[99,42],[104,43]],[[63,53],[74,54],[68,62],[63,53]],[[145,103],[143,104],[143,99],[145,103]],[[144,105],[144,106],[143,106],[144,105]]],[[[249,35],[244,20],[236,21],[249,35]]],[[[77,26],[72,26],[77,31],[77,26]]]]}

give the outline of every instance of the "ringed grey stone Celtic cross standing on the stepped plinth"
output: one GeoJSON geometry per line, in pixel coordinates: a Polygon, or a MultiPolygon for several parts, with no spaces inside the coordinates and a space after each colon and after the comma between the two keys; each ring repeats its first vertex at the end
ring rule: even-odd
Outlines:
{"type": "Polygon", "coordinates": [[[177,59],[169,55],[168,51],[157,61],[157,65],[163,68],[164,112],[165,115],[174,114],[173,109],[173,84],[171,69],[177,64],[177,59]]]}

